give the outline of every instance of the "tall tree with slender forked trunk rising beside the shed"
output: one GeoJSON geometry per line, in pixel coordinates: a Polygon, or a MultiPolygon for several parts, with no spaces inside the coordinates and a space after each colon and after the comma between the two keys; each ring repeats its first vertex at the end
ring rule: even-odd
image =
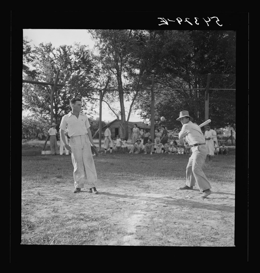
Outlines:
{"type": "Polygon", "coordinates": [[[169,56],[181,61],[180,55],[187,54],[189,50],[188,45],[183,46],[189,37],[177,31],[95,29],[90,30],[90,33],[97,41],[98,49],[98,55],[93,58],[100,63],[104,72],[113,76],[109,88],[118,90],[107,93],[104,98],[112,103],[118,96],[120,111],[116,112],[112,107],[110,109],[121,120],[121,129],[127,139],[127,123],[138,89],[147,88],[148,84],[142,76],[154,73],[158,63],[161,64],[169,56]],[[124,100],[132,101],[127,118],[124,100]]]}

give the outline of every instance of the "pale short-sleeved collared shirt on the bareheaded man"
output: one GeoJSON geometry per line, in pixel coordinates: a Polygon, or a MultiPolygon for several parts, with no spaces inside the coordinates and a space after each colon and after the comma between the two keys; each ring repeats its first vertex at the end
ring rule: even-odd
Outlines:
{"type": "Polygon", "coordinates": [[[62,121],[60,123],[60,129],[65,130],[66,127],[68,129],[68,136],[71,137],[86,135],[87,128],[90,127],[90,124],[87,115],[79,113],[77,118],[70,111],[69,114],[62,117],[62,121]]]}

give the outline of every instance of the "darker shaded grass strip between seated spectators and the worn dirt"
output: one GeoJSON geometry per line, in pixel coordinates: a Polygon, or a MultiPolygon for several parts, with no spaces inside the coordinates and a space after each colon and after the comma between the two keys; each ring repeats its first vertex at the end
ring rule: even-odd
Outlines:
{"type": "MultiPolygon", "coordinates": [[[[185,179],[188,155],[133,155],[101,154],[94,157],[98,177],[123,177],[128,180],[147,178],[185,179]]],[[[205,174],[210,181],[226,183],[235,181],[235,149],[229,147],[229,155],[218,155],[205,174]]],[[[33,187],[46,183],[51,177],[68,178],[73,181],[71,156],[23,156],[22,186],[33,187]],[[23,181],[25,184],[23,184],[23,181]]],[[[51,181],[50,181],[51,182],[51,181]]]]}

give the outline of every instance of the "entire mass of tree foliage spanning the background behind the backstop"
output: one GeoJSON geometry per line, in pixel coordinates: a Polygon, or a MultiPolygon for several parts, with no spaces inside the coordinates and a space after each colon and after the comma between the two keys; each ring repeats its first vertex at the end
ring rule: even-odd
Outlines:
{"type": "MultiPolygon", "coordinates": [[[[150,118],[151,75],[157,89],[155,122],[166,115],[165,109],[168,127],[178,126],[176,116],[183,109],[203,121],[205,88],[211,74],[209,118],[214,118],[215,125],[234,126],[235,91],[218,89],[235,89],[235,31],[92,29],[89,32],[96,42],[94,51],[77,43],[58,48],[41,43],[32,50],[24,38],[24,78],[54,82],[60,69],[59,83],[67,86],[57,87],[54,94],[56,123],[70,111],[69,100],[73,96],[81,97],[83,106],[88,104],[88,113],[93,113],[97,89],[111,76],[107,88],[113,91],[107,91],[103,100],[121,120],[127,139],[132,111],[138,111],[144,119],[150,118]],[[130,109],[125,109],[125,101],[131,102],[130,109]],[[118,102],[120,108],[116,109],[113,105],[118,102]]],[[[50,96],[51,86],[23,84],[23,108],[39,117],[50,116],[50,96]]]]}

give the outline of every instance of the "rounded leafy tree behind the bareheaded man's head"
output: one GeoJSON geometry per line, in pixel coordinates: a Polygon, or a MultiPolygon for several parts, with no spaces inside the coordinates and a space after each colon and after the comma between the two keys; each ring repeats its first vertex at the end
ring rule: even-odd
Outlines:
{"type": "MultiPolygon", "coordinates": [[[[90,103],[87,105],[87,103],[90,101],[88,97],[94,93],[93,89],[97,88],[99,72],[95,69],[86,46],[74,44],[74,46],[63,45],[54,48],[51,43],[40,43],[33,54],[31,64],[37,71],[34,80],[54,82],[57,69],[60,69],[59,83],[67,86],[57,86],[54,93],[53,116],[56,123],[59,124],[62,116],[71,110],[69,100],[74,96],[82,98],[83,110],[86,110],[89,115],[95,114],[93,105],[90,103]],[[68,88],[68,86],[82,89],[68,88]]],[[[25,79],[28,78],[25,77],[25,79]]],[[[24,83],[23,108],[39,117],[49,118],[51,89],[50,85],[24,83]]]]}

